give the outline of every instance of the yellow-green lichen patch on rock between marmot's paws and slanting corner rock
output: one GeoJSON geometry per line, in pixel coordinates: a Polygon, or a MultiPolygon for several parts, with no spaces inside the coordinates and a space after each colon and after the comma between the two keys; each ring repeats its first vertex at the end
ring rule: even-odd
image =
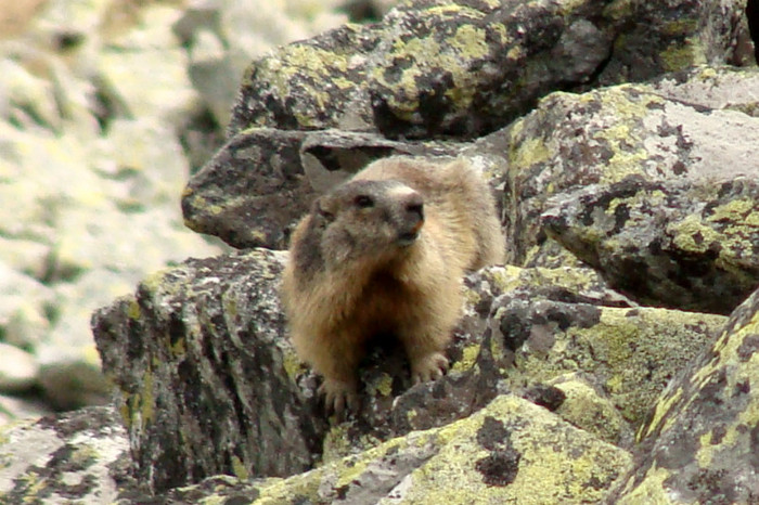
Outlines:
{"type": "MultiPolygon", "coordinates": [[[[709,331],[721,327],[725,320],[666,309],[599,311],[600,320],[590,326],[546,329],[555,339],[549,350],[531,350],[530,337],[515,355],[515,368],[520,372],[510,371],[507,380],[517,385],[542,383],[577,370],[594,374],[604,380],[622,416],[641,423],[667,378],[693,359],[696,342],[706,344],[709,331]]],[[[541,341],[542,348],[545,344],[541,341]]]]}

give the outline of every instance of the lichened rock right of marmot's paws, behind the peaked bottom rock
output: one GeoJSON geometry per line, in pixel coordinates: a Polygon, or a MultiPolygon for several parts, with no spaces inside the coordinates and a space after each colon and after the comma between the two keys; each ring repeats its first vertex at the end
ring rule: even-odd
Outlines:
{"type": "Polygon", "coordinates": [[[724,323],[711,314],[540,300],[529,293],[493,301],[489,326],[512,388],[581,371],[638,426],[677,372],[724,323]]]}

